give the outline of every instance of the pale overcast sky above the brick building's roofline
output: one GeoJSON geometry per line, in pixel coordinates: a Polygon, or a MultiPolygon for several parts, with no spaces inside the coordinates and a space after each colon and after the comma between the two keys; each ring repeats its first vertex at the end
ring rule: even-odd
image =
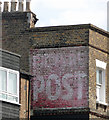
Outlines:
{"type": "Polygon", "coordinates": [[[92,23],[107,30],[107,1],[31,0],[31,10],[39,19],[37,27],[92,23]]]}

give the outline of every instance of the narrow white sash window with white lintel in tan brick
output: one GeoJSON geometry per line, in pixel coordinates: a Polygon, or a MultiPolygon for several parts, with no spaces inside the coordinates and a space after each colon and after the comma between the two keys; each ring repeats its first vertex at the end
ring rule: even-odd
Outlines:
{"type": "Polygon", "coordinates": [[[106,63],[96,60],[96,97],[97,102],[105,103],[106,63]]]}

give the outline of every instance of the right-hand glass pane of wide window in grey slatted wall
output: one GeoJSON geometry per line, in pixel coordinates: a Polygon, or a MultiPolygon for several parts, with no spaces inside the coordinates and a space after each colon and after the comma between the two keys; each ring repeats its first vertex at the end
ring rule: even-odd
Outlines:
{"type": "Polygon", "coordinates": [[[9,73],[8,83],[8,92],[12,94],[17,94],[17,75],[14,73],[9,73]]]}

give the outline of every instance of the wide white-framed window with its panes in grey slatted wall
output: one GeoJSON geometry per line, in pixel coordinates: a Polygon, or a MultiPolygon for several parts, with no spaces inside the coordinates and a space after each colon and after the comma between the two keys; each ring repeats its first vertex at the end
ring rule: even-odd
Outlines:
{"type": "Polygon", "coordinates": [[[19,103],[19,72],[0,67],[0,99],[19,103]]]}

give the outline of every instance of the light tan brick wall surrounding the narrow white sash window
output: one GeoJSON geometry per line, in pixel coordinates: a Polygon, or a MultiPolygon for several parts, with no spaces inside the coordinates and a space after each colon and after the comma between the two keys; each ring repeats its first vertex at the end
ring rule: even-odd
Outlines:
{"type": "MultiPolygon", "coordinates": [[[[106,36],[90,30],[89,34],[89,108],[91,111],[107,115],[108,106],[96,103],[96,59],[107,63],[106,68],[106,103],[109,97],[108,75],[108,39],[106,36]]],[[[93,118],[93,117],[91,117],[93,118]]]]}

